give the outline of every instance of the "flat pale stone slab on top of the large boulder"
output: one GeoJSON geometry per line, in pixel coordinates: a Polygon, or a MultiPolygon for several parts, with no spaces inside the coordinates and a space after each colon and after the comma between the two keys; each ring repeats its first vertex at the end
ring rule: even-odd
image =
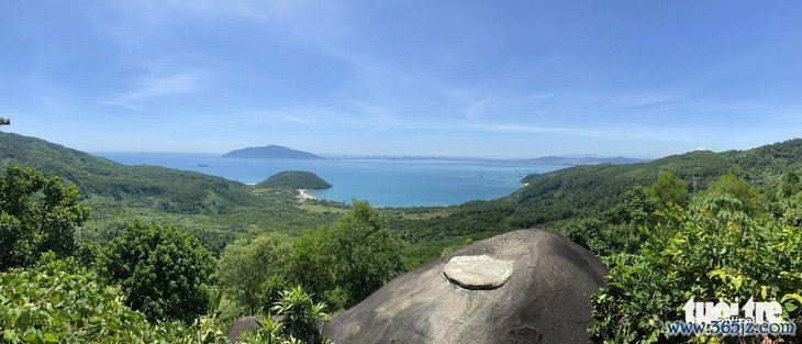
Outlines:
{"type": "Polygon", "coordinates": [[[469,290],[491,290],[503,286],[512,275],[511,260],[498,260],[488,255],[456,256],[443,267],[443,275],[469,290]]]}

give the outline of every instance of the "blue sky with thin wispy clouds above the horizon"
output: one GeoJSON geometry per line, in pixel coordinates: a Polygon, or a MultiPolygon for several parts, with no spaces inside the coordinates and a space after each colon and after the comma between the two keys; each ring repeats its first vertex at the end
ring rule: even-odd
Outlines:
{"type": "Polygon", "coordinates": [[[799,1],[2,1],[5,131],[83,151],[658,157],[802,136],[799,1]]]}

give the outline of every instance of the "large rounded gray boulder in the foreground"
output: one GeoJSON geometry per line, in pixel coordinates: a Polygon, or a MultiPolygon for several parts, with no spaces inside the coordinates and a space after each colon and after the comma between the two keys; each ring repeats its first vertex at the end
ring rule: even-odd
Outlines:
{"type": "Polygon", "coordinates": [[[477,242],[391,280],[334,317],[334,344],[587,343],[606,268],[541,230],[477,242]]]}

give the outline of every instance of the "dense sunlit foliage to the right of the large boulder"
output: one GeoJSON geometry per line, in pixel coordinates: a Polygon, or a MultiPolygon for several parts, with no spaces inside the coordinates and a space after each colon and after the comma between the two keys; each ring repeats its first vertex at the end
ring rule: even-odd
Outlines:
{"type": "Polygon", "coordinates": [[[689,339],[666,335],[665,322],[683,320],[681,308],[691,297],[782,301],[784,319],[800,323],[802,230],[755,220],[748,215],[751,211],[753,206],[738,198],[712,192],[694,198],[688,210],[659,212],[662,221],[642,229],[646,241],[636,254],[605,258],[609,286],[592,298],[594,339],[684,343],[689,339]]]}

